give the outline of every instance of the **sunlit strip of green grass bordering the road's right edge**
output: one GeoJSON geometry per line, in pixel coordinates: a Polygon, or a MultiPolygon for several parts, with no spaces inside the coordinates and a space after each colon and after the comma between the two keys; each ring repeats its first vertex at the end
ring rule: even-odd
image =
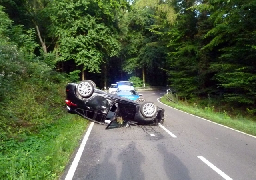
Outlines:
{"type": "Polygon", "coordinates": [[[182,110],[184,112],[188,112],[190,114],[194,114],[196,116],[205,118],[212,122],[216,122],[218,124],[222,124],[224,126],[228,126],[230,128],[234,128],[236,130],[256,136],[256,121],[253,119],[249,119],[241,115],[235,118],[231,118],[230,114],[228,114],[226,111],[216,112],[214,106],[211,107],[208,105],[205,108],[198,108],[196,104],[190,105],[186,101],[178,101],[177,98],[175,98],[172,94],[168,94],[168,97],[169,99],[174,100],[174,102],[168,100],[166,95],[163,98],[161,98],[160,101],[173,108],[182,110]]]}

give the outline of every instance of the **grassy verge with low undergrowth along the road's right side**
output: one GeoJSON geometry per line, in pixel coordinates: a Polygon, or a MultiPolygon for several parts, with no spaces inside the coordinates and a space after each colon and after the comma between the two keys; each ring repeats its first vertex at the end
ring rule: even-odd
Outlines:
{"type": "Polygon", "coordinates": [[[191,103],[186,99],[180,100],[178,94],[165,94],[160,101],[168,106],[205,118],[212,122],[228,126],[230,128],[256,136],[256,121],[252,113],[245,113],[238,110],[224,110],[221,102],[198,100],[198,104],[191,103]],[[219,107],[218,106],[222,106],[219,107]]]}

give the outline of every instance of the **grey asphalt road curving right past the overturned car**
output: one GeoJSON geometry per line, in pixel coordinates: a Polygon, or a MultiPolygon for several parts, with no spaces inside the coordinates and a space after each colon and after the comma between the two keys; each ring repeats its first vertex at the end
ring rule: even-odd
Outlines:
{"type": "Polygon", "coordinates": [[[91,124],[62,180],[256,180],[255,137],[165,106],[164,92],[140,93],[165,109],[162,127],[91,124]]]}

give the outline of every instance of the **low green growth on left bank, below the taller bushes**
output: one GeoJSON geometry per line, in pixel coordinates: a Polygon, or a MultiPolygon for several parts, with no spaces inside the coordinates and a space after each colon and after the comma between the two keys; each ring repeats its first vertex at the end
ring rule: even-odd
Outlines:
{"type": "Polygon", "coordinates": [[[66,83],[48,75],[17,82],[0,101],[1,180],[58,179],[86,130],[87,120],[66,112],[66,83]]]}

